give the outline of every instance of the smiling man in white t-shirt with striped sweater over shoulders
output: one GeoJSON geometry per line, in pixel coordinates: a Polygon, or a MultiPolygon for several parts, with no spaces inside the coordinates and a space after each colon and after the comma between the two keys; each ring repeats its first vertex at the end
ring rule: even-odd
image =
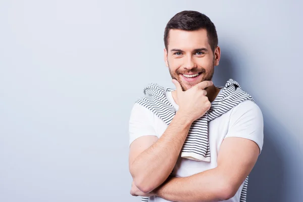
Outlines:
{"type": "Polygon", "coordinates": [[[221,52],[207,16],[176,14],[164,42],[176,90],[151,84],[133,106],[131,194],[149,201],[245,201],[244,182],[263,146],[260,108],[237,82],[213,84],[221,52]]]}

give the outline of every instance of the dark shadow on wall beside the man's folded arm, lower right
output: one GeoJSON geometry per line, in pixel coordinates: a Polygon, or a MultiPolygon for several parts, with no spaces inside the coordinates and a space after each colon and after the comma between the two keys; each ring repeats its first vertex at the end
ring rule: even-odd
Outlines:
{"type": "MultiPolygon", "coordinates": [[[[283,148],[276,137],[287,135],[281,124],[263,110],[264,145],[261,155],[249,174],[247,202],[276,201],[284,202],[286,187],[286,170],[283,148]],[[271,120],[270,122],[268,120],[271,120]]],[[[282,141],[282,140],[280,140],[282,141]]],[[[285,150],[284,150],[285,153],[285,150]]]]}

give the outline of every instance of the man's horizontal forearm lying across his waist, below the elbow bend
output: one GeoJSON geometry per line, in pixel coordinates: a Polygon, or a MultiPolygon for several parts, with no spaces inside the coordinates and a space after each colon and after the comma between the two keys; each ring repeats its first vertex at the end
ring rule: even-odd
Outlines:
{"type": "Polygon", "coordinates": [[[171,201],[210,202],[229,198],[224,180],[216,169],[189,177],[172,177],[153,190],[153,194],[171,201]]]}

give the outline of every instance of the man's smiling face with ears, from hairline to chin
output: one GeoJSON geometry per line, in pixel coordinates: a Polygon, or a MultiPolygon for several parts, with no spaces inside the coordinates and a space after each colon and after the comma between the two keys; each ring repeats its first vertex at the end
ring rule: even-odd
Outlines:
{"type": "Polygon", "coordinates": [[[199,82],[212,80],[214,67],[219,65],[220,48],[212,51],[206,29],[171,29],[164,60],[171,77],[179,81],[185,91],[199,82]]]}

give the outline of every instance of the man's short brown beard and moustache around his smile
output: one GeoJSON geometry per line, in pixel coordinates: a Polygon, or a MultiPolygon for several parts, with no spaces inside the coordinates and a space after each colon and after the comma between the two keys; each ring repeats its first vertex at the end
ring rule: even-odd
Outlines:
{"type": "MultiPolygon", "coordinates": [[[[170,68],[169,68],[169,64],[168,64],[168,69],[169,69],[169,73],[172,77],[172,79],[176,79],[180,85],[183,91],[188,90],[189,88],[191,88],[192,86],[202,82],[202,81],[211,81],[213,79],[213,75],[214,75],[214,70],[215,70],[215,60],[213,60],[212,66],[210,68],[210,71],[207,72],[203,67],[200,68],[192,68],[190,71],[180,71],[179,69],[177,69],[175,72],[173,72],[170,68]],[[202,78],[200,81],[198,81],[197,83],[191,83],[191,84],[185,84],[181,79],[180,79],[180,74],[202,74],[202,78]],[[189,87],[188,87],[189,85],[189,87]]],[[[200,75],[199,75],[200,76],[200,75]]]]}

